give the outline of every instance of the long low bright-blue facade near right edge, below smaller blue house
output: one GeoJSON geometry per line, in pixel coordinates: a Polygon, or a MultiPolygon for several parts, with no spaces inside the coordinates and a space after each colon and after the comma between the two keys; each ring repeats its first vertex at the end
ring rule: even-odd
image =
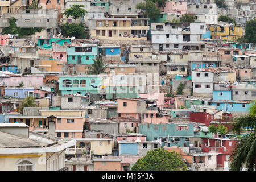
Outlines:
{"type": "Polygon", "coordinates": [[[248,112],[251,106],[249,103],[221,102],[221,101],[220,102],[213,101],[212,105],[216,106],[217,103],[220,104],[220,106],[217,106],[218,110],[224,110],[228,112],[248,112]]]}

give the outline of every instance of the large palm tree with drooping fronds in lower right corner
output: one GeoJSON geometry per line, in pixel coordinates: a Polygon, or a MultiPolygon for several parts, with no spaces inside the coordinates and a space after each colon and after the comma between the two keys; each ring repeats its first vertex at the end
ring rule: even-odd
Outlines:
{"type": "Polygon", "coordinates": [[[250,113],[234,119],[233,131],[247,131],[230,155],[230,170],[240,171],[245,166],[249,171],[256,169],[256,101],[251,102],[250,113]]]}

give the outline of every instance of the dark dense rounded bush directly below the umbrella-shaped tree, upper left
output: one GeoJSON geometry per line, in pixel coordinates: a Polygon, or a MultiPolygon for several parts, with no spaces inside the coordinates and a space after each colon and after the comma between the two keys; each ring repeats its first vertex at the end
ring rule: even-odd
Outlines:
{"type": "Polygon", "coordinates": [[[88,38],[88,30],[85,29],[84,24],[79,23],[65,23],[61,28],[61,34],[63,36],[74,36],[77,39],[87,39],[88,38]]]}

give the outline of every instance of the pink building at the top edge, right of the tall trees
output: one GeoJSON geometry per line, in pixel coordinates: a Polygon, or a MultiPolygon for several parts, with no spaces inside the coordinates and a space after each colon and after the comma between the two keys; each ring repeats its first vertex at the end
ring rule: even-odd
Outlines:
{"type": "Polygon", "coordinates": [[[185,14],[187,13],[187,1],[167,1],[166,6],[161,8],[161,11],[164,13],[178,13],[178,14],[185,14]]]}

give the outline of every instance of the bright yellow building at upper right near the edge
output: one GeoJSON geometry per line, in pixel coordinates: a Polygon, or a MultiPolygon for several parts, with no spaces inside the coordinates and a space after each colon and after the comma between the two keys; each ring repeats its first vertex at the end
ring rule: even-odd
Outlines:
{"type": "Polygon", "coordinates": [[[237,40],[245,35],[245,30],[241,26],[218,25],[210,27],[212,39],[237,40]]]}

